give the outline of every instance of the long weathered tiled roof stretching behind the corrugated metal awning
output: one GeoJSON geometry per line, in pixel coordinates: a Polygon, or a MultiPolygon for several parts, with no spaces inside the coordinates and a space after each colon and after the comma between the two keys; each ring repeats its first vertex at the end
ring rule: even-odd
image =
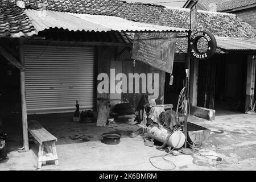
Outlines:
{"type": "MultiPolygon", "coordinates": [[[[3,0],[2,0],[3,1],[3,0]]],[[[6,0],[15,2],[15,0],[6,0]]],[[[163,26],[189,28],[189,10],[187,9],[167,9],[162,6],[139,5],[118,0],[23,0],[27,9],[38,9],[42,7],[42,2],[47,10],[64,11],[71,13],[84,13],[96,15],[111,15],[134,20],[143,23],[159,24],[163,26]]],[[[19,16],[19,8],[15,11],[0,14],[6,16],[19,16]]],[[[233,14],[211,13],[208,11],[198,11],[198,30],[211,31],[216,36],[255,38],[255,29],[233,14]]],[[[29,20],[28,20],[29,22],[29,20]]],[[[29,24],[29,23],[28,23],[29,24]]],[[[2,31],[2,28],[0,28],[2,31]]]]}

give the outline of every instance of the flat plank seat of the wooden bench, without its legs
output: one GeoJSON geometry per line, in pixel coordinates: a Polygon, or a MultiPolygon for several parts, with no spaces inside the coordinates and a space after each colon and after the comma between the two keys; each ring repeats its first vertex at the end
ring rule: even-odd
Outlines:
{"type": "Polygon", "coordinates": [[[57,138],[44,129],[37,121],[29,121],[28,126],[28,131],[40,144],[52,140],[57,141],[57,138]]]}

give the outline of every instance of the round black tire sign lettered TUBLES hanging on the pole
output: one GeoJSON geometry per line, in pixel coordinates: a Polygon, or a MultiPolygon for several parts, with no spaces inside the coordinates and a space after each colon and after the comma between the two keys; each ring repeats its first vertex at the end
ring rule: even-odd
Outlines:
{"type": "Polygon", "coordinates": [[[208,31],[199,31],[192,35],[190,40],[191,54],[200,60],[207,60],[212,57],[216,51],[217,43],[214,35],[208,31]],[[208,48],[206,52],[200,52],[197,47],[197,43],[200,38],[207,40],[208,48]]]}

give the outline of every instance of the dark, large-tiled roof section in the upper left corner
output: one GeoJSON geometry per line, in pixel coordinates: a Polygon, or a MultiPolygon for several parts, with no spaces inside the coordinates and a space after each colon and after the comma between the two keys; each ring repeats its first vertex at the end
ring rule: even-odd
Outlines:
{"type": "Polygon", "coordinates": [[[36,31],[27,15],[17,6],[0,5],[0,38],[32,36],[36,31]]]}

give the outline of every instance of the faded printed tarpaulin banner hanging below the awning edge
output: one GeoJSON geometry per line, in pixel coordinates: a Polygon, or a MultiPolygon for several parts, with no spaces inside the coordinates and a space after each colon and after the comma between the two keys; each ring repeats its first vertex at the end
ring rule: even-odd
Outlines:
{"type": "Polygon", "coordinates": [[[177,33],[136,33],[131,58],[172,73],[177,33]]]}

